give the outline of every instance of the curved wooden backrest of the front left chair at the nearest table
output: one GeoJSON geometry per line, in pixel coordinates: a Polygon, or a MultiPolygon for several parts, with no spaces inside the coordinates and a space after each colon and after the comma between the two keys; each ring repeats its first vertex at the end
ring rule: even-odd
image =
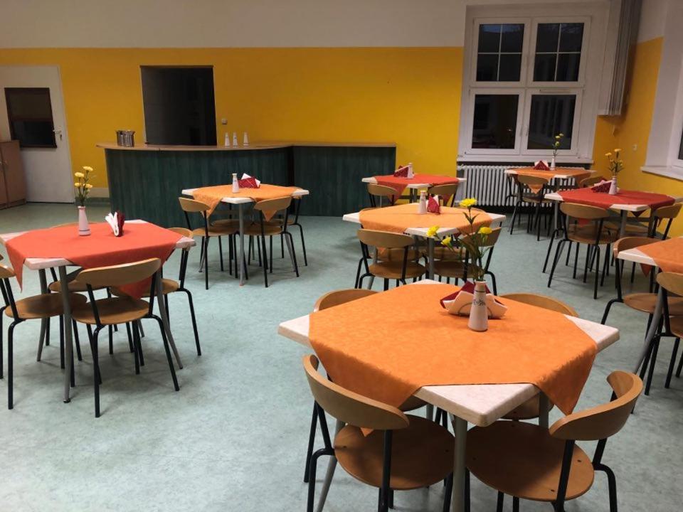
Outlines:
{"type": "Polygon", "coordinates": [[[408,427],[408,417],[396,407],[353,393],[323,378],[317,370],[318,359],[304,356],[304,370],[314,400],[329,415],[356,427],[397,430],[408,427]]]}

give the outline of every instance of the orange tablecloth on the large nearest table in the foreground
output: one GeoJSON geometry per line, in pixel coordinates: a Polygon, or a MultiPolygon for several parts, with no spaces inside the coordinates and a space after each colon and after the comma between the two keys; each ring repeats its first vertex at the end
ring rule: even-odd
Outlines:
{"type": "Polygon", "coordinates": [[[571,412],[593,339],[562,314],[509,299],[488,331],[470,331],[439,304],[455,290],[409,284],[317,311],[309,338],[335,383],[396,407],[425,385],[532,383],[571,412]]]}

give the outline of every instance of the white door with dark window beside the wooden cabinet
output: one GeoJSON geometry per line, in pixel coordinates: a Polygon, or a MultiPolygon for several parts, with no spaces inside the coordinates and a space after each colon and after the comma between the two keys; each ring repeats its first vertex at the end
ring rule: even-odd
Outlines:
{"type": "Polygon", "coordinates": [[[0,66],[0,137],[9,140],[12,133],[26,141],[21,148],[26,200],[73,203],[69,139],[57,66],[0,66]],[[8,112],[8,98],[9,110],[14,105],[14,112],[8,112]]]}

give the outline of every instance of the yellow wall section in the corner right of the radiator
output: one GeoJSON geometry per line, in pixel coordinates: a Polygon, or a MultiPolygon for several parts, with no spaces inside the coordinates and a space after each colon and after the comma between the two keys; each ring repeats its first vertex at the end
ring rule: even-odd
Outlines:
{"type": "MultiPolygon", "coordinates": [[[[637,45],[629,80],[628,106],[620,116],[598,117],[593,159],[595,169],[608,176],[605,153],[615,148],[623,149],[624,170],[619,174],[620,186],[683,196],[683,181],[640,170],[647,154],[663,41],[663,38],[655,38],[637,45]]],[[[683,235],[683,220],[674,220],[672,234],[683,235]]]]}

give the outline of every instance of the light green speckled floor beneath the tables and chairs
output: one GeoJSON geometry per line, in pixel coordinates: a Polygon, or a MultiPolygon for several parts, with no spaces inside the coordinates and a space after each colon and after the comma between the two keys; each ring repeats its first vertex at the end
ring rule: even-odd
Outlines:
{"type": "MultiPolygon", "coordinates": [[[[88,211],[97,220],[106,208],[88,211]]],[[[23,206],[0,212],[0,232],[70,220],[75,220],[73,206],[23,206]]],[[[352,287],[359,245],[354,225],[338,218],[302,223],[309,266],[296,279],[287,262],[276,259],[268,289],[258,267],[251,267],[253,279],[243,288],[221,273],[214,246],[206,291],[197,272],[198,250],[193,252],[188,287],[196,301],[203,356],[194,351],[185,299],[171,297],[171,324],[185,363],[178,372],[179,393],[171,387],[159,333],[146,324],[147,366],[141,375],[134,375],[125,335],[117,334],[113,356],[101,344],[103,414],[96,420],[85,343],[73,400],[65,405],[58,343],[46,347],[37,363],[38,322],[18,326],[15,408],[0,406],[0,511],[304,511],[303,456],[312,404],[300,364],[306,351],[277,336],[277,324],[306,314],[324,292],[352,287]]],[[[492,262],[499,292],[550,294],[599,321],[613,296],[613,280],[594,301],[591,285],[572,280],[568,267],[561,266],[547,289],[541,274],[545,250],[546,242],[523,230],[504,233],[492,262]]],[[[174,255],[168,268],[178,264],[174,255]]],[[[24,282],[22,295],[38,292],[37,274],[26,271],[24,282]]],[[[618,305],[610,324],[621,329],[622,338],[598,355],[579,408],[608,400],[605,376],[630,369],[640,348],[644,315],[618,305]]],[[[607,445],[604,462],[617,475],[623,511],[681,506],[683,381],[674,378],[669,390],[663,385],[671,346],[662,342],[650,397],[641,398],[628,425],[607,445]]],[[[6,382],[0,380],[0,403],[5,396],[6,382]]],[[[555,410],[551,420],[557,417],[555,410]]],[[[588,446],[591,454],[592,449],[588,446]]],[[[375,489],[339,471],[326,510],[372,510],[376,496],[375,489]]],[[[439,511],[442,498],[441,486],[399,493],[396,510],[439,511]]],[[[494,492],[474,481],[472,511],[494,508],[494,492]]],[[[522,508],[551,510],[538,503],[522,508]]],[[[608,511],[604,476],[598,474],[593,489],[566,510],[608,511]]]]}

